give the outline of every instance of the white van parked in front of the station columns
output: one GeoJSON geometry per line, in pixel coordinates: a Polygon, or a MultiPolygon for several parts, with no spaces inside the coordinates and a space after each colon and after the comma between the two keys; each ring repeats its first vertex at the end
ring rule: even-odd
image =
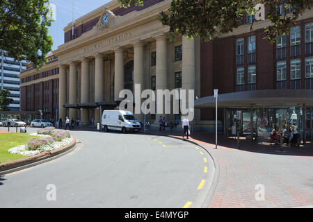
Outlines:
{"type": "Polygon", "coordinates": [[[109,130],[118,130],[122,131],[122,133],[139,133],[141,123],[129,111],[104,110],[102,114],[102,129],[106,132],[109,130]]]}

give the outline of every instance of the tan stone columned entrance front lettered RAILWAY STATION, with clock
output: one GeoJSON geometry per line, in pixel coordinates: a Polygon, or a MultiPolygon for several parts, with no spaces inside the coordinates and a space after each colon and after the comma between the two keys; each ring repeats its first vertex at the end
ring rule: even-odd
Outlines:
{"type": "MultiPolygon", "coordinates": [[[[157,12],[166,7],[161,2],[136,12],[140,19],[131,19],[132,14],[121,17],[106,9],[99,10],[99,22],[93,29],[58,47],[54,53],[60,62],[59,114],[63,120],[66,116],[79,117],[83,125],[88,125],[95,117],[95,123],[99,123],[100,111],[117,108],[123,99],[119,94],[129,83],[134,84],[134,89],[141,85],[141,92],[152,87],[172,90],[177,81],[175,74],[181,73],[182,89],[200,89],[200,85],[195,85],[196,44],[200,41],[179,36],[170,41],[169,28],[157,21],[157,12]],[[109,22],[103,24],[102,15],[109,15],[109,22]],[[175,58],[177,46],[182,46],[180,60],[175,58]],[[126,67],[129,62],[134,62],[131,71],[126,67]]],[[[156,108],[161,105],[159,101],[156,108]]],[[[138,112],[141,107],[135,106],[135,110],[138,112]]],[[[159,115],[164,116],[156,114],[152,119],[149,115],[147,119],[156,121],[159,115]]],[[[136,117],[144,120],[144,114],[136,117]]],[[[168,121],[175,120],[174,115],[166,117],[168,121]]]]}

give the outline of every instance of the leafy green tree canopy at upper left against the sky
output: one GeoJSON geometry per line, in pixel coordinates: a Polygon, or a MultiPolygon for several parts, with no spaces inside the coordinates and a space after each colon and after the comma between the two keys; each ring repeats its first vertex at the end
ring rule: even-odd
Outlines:
{"type": "Polygon", "coordinates": [[[53,44],[48,35],[51,22],[49,0],[1,0],[0,49],[40,67],[53,44]]]}

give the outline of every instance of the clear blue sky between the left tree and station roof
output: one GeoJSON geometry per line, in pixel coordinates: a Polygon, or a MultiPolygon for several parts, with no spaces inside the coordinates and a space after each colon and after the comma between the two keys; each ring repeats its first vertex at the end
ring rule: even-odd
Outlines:
{"type": "Polygon", "coordinates": [[[72,22],[72,3],[74,1],[74,19],[103,6],[110,0],[50,0],[56,6],[56,21],[49,27],[49,35],[54,40],[52,50],[64,43],[63,28],[72,22]]]}

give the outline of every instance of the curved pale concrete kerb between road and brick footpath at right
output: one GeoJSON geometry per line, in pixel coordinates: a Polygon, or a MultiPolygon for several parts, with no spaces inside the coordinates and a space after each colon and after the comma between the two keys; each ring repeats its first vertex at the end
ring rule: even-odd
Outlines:
{"type": "Polygon", "coordinates": [[[220,175],[220,167],[218,166],[218,161],[216,160],[216,157],[212,155],[207,148],[204,148],[201,144],[198,144],[197,142],[193,142],[190,140],[185,140],[179,137],[171,136],[171,135],[161,135],[156,133],[145,133],[144,135],[154,135],[154,136],[164,136],[164,137],[170,137],[172,139],[179,139],[184,142],[191,143],[195,146],[198,146],[201,148],[207,156],[210,158],[211,161],[208,161],[209,163],[209,169],[213,169],[211,173],[207,173],[207,181],[204,185],[204,188],[200,191],[200,195],[198,195],[198,198],[196,198],[195,202],[191,206],[191,208],[207,208],[209,207],[211,200],[214,196],[214,192],[216,190],[216,187],[218,185],[218,178],[220,175]],[[212,175],[213,174],[213,175],[212,175]]]}

